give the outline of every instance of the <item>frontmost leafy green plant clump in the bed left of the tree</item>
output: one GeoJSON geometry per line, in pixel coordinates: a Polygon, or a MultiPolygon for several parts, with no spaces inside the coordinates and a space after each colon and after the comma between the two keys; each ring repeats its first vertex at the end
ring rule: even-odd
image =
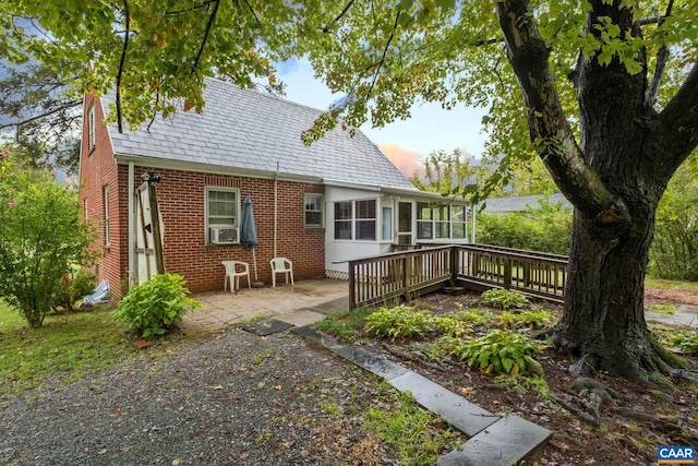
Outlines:
{"type": "Polygon", "coordinates": [[[539,349],[526,335],[501,330],[490,331],[485,336],[474,339],[455,338],[449,344],[452,355],[485,373],[525,372],[527,362],[535,363],[531,355],[539,349]]]}

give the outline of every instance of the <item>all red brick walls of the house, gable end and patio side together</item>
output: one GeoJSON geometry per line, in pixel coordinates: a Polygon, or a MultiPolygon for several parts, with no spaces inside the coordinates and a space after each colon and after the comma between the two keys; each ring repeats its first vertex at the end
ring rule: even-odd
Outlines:
{"type": "MultiPolygon", "coordinates": [[[[121,297],[121,286],[128,279],[129,266],[129,167],[117,165],[104,120],[100,103],[85,98],[83,147],[81,158],[80,202],[87,199],[87,219],[99,230],[95,242],[101,256],[97,260],[98,280],[108,279],[112,296],[121,297]],[[95,147],[88,147],[88,110],[95,105],[95,147]],[[109,231],[106,246],[104,187],[109,186],[109,231]]],[[[191,291],[222,289],[225,271],[221,261],[250,263],[254,280],[252,251],[244,246],[206,246],[204,202],[205,187],[228,187],[240,190],[240,206],[251,195],[260,246],[256,249],[257,276],[272,282],[269,260],[274,255],[274,180],[243,178],[201,172],[156,169],[136,166],[134,187],[141,175],[154,171],[163,177],[157,186],[160,214],[165,224],[165,266],[181,274],[191,291]]],[[[303,226],[305,193],[324,193],[321,184],[290,181],[278,182],[277,255],[293,263],[297,279],[321,278],[325,274],[325,230],[303,226]]],[[[240,215],[238,213],[238,215],[240,215]]],[[[241,283],[242,286],[244,286],[241,283]]]]}

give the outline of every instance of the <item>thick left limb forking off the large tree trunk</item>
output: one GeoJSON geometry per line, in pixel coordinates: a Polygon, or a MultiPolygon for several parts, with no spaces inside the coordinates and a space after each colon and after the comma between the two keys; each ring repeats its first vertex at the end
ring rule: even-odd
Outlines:
{"type": "Polygon", "coordinates": [[[553,73],[550,50],[533,21],[530,0],[494,0],[508,50],[507,58],[528,107],[531,141],[563,194],[601,223],[627,216],[627,206],[613,199],[587,163],[565,118],[553,73]]]}

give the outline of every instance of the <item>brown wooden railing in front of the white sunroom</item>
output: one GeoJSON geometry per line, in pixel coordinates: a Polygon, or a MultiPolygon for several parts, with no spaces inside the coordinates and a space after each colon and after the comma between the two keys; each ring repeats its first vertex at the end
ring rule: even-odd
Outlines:
{"type": "Polygon", "coordinates": [[[349,262],[351,309],[412,298],[450,286],[505,288],[562,302],[567,258],[492,247],[454,244],[349,262]]]}

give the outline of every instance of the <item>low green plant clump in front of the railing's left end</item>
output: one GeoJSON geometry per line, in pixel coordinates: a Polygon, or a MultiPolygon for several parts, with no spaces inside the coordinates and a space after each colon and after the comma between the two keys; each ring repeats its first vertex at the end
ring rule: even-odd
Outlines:
{"type": "Polygon", "coordinates": [[[435,330],[431,311],[416,311],[409,306],[382,307],[366,316],[365,330],[380,337],[410,338],[425,336],[435,330]]]}

